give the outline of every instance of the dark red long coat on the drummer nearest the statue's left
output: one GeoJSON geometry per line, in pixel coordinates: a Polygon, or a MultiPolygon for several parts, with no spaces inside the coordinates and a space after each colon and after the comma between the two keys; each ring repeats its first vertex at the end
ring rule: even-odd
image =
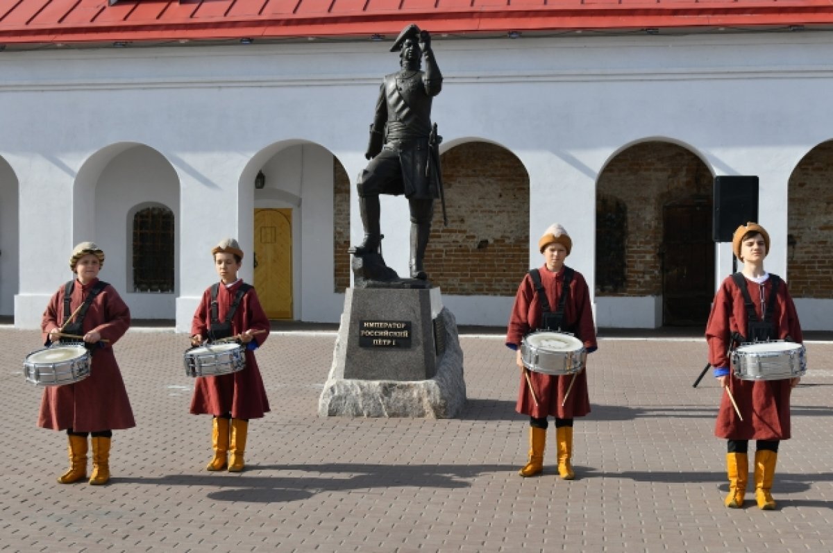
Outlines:
{"type": "MultiPolygon", "coordinates": [[[[242,285],[237,281],[230,289],[220,285],[217,292],[218,318],[226,320],[229,307],[232,306],[237,289],[242,285]]],[[[211,288],[202,292],[202,301],[194,313],[191,323],[191,335],[208,336],[211,326],[211,288]]],[[[232,334],[241,334],[247,330],[263,331],[253,338],[260,346],[269,336],[269,319],[263,312],[257,293],[252,288],[246,292],[237,306],[232,318],[232,334]]],[[[244,346],[245,347],[245,346],[244,346]]],[[[191,412],[194,415],[221,416],[231,413],[236,419],[259,419],[269,411],[269,399],[254,352],[246,350],[246,367],[228,375],[200,376],[194,386],[191,400],[191,412]]]]}

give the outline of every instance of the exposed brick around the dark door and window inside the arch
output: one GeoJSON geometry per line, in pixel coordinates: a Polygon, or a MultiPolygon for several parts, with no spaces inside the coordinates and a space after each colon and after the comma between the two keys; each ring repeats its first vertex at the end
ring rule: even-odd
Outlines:
{"type": "MultiPolygon", "coordinates": [[[[711,196],[712,176],[695,154],[668,142],[643,142],[627,148],[601,172],[598,202],[616,198],[627,208],[625,286],[596,289],[598,296],[659,296],[662,293],[662,207],[666,202],[711,196]]],[[[600,257],[600,256],[596,256],[600,257]]]]}

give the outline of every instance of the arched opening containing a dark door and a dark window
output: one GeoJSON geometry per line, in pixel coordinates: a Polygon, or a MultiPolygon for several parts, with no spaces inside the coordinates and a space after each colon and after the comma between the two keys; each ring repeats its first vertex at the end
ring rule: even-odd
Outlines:
{"type": "Polygon", "coordinates": [[[634,311],[655,302],[646,326],[705,325],[714,296],[712,181],[700,157],[671,142],[616,154],[597,186],[596,296],[630,300],[621,305],[634,311]]]}

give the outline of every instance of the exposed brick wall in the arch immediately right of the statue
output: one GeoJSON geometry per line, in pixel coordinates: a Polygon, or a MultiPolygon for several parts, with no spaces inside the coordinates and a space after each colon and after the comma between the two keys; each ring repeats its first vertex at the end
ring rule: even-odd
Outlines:
{"type": "Polygon", "coordinates": [[[505,148],[466,142],[442,155],[448,227],[436,202],[425,266],[443,293],[514,296],[529,268],[529,176],[505,148]]]}

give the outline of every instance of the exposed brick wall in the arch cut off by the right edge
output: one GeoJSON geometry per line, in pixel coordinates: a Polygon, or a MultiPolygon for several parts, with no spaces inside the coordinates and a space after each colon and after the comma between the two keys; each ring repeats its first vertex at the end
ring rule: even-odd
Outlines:
{"type": "Polygon", "coordinates": [[[833,298],[833,142],[813,148],[792,172],[787,281],[793,297],[833,298]]]}

